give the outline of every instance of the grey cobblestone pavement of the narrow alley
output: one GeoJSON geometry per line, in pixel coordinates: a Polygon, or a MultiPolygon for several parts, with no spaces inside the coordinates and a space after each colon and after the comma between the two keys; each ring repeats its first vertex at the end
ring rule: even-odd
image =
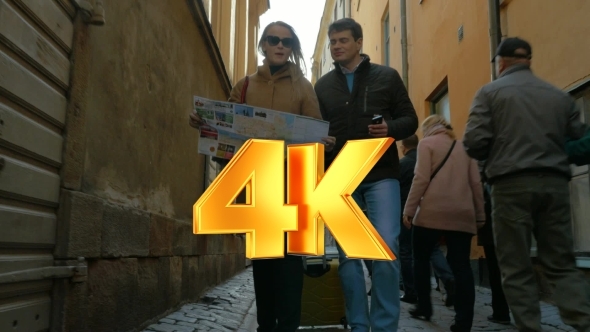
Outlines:
{"type": "MultiPolygon", "coordinates": [[[[252,269],[236,275],[222,285],[208,291],[198,303],[182,306],[178,311],[162,318],[158,323],[148,326],[143,332],[193,332],[193,331],[256,331],[256,306],[252,269]]],[[[434,315],[430,322],[413,319],[408,314],[412,307],[402,303],[399,323],[400,332],[415,331],[449,331],[453,323],[454,311],[443,305],[439,292],[432,292],[434,315]]],[[[486,288],[477,288],[475,318],[473,331],[517,331],[513,325],[500,325],[487,321],[492,313],[491,295],[486,288]]],[[[541,305],[544,331],[575,331],[561,322],[557,308],[542,303],[541,305]]],[[[301,327],[302,332],[343,332],[342,326],[332,327],[301,327]]]]}

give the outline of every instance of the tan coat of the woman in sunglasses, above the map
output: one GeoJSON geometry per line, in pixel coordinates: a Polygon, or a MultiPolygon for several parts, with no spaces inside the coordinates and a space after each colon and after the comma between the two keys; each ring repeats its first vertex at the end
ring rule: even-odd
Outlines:
{"type": "MultiPolygon", "coordinates": [[[[229,101],[239,103],[245,78],[235,84],[229,101]]],[[[321,119],[320,106],[311,83],[301,69],[288,62],[274,75],[266,60],[253,75],[246,92],[246,104],[275,111],[321,119]]]]}

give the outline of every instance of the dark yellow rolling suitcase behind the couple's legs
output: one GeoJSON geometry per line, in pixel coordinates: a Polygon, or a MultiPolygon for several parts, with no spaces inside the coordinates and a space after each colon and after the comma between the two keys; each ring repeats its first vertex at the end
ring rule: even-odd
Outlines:
{"type": "Polygon", "coordinates": [[[301,296],[301,326],[348,327],[344,293],[338,277],[338,251],[326,248],[321,257],[303,258],[304,279],[301,296]]]}

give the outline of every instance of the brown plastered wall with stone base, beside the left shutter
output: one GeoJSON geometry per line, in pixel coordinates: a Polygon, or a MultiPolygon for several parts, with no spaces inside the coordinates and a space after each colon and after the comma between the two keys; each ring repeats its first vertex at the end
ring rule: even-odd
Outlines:
{"type": "Polygon", "coordinates": [[[242,237],[192,231],[205,188],[192,97],[231,88],[206,10],[103,3],[104,26],[76,26],[55,250],[58,265],[85,257],[88,277],[56,282],[54,331],[136,329],[245,266],[242,237]]]}

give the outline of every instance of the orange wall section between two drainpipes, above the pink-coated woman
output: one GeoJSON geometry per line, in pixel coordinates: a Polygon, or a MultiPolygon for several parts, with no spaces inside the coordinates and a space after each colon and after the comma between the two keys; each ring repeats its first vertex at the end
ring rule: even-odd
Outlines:
{"type": "Polygon", "coordinates": [[[430,115],[430,99],[446,81],[451,123],[461,137],[475,92],[491,80],[487,1],[407,5],[410,98],[422,121],[430,115]]]}

